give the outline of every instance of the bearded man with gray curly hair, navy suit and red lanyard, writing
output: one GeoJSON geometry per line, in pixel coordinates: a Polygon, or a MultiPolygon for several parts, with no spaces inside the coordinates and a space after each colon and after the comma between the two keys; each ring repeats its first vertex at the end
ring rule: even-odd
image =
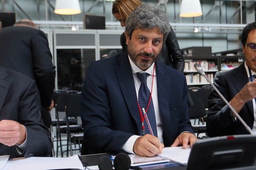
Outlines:
{"type": "Polygon", "coordinates": [[[193,145],[184,74],[156,61],[170,25],[161,7],[143,4],[126,20],[128,52],[93,62],[82,89],[82,154],[155,156],[193,145]]]}

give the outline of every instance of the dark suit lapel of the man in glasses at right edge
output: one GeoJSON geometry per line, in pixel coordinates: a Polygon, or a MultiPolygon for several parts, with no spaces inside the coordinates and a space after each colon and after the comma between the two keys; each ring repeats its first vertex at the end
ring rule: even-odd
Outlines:
{"type": "MultiPolygon", "coordinates": [[[[234,71],[234,76],[235,78],[232,79],[232,81],[234,82],[234,86],[236,87],[236,89],[238,90],[238,92],[241,91],[241,89],[244,88],[244,86],[249,82],[248,78],[247,78],[247,72],[245,70],[245,65],[244,63],[241,64],[240,67],[238,67],[235,71],[234,71]],[[245,76],[246,75],[246,76],[245,76]]],[[[245,103],[247,106],[249,106],[249,109],[251,111],[251,113],[253,114],[253,104],[252,104],[252,100],[249,102],[245,103]]]]}

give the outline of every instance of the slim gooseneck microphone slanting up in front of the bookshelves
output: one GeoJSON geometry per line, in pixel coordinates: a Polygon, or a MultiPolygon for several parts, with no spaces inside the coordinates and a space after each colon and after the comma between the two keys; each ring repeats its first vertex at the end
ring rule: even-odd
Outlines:
{"type": "Polygon", "coordinates": [[[203,71],[203,68],[198,64],[195,63],[194,64],[195,69],[197,70],[198,73],[200,73],[202,76],[204,76],[206,78],[206,80],[210,83],[210,85],[212,85],[212,87],[216,90],[216,92],[219,94],[219,96],[221,97],[221,99],[223,99],[223,101],[227,104],[227,106],[232,110],[232,112],[236,115],[236,117],[241,121],[241,123],[244,125],[244,127],[246,128],[247,131],[249,131],[249,133],[251,135],[254,135],[252,132],[252,129],[245,123],[245,121],[240,117],[240,115],[234,110],[234,108],[228,103],[228,101],[225,99],[225,97],[219,92],[219,90],[216,88],[216,86],[214,84],[212,84],[212,82],[210,81],[210,79],[205,75],[205,71],[203,71]]]}

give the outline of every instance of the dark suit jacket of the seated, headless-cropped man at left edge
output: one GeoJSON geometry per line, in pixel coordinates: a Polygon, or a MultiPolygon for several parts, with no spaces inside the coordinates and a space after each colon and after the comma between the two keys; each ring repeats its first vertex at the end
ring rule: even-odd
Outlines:
{"type": "Polygon", "coordinates": [[[48,129],[43,125],[35,96],[35,81],[0,67],[0,120],[15,120],[26,127],[28,147],[22,155],[15,146],[0,143],[0,155],[14,157],[49,156],[52,149],[48,129]]]}

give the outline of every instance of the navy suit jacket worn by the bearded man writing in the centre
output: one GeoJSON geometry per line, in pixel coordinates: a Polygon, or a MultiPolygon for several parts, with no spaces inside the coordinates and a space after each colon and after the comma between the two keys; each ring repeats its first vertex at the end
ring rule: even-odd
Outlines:
{"type": "MultiPolygon", "coordinates": [[[[187,83],[182,73],[156,62],[157,93],[165,146],[183,131],[194,133],[187,107],[187,83]]],[[[93,62],[82,89],[81,119],[85,153],[121,152],[139,135],[140,118],[128,54],[93,62]]]]}

